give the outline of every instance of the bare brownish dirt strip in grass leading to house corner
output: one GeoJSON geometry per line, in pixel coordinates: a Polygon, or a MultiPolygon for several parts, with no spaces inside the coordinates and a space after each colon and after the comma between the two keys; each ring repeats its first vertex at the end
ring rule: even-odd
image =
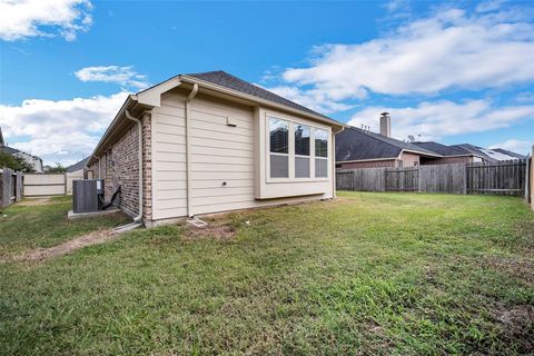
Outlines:
{"type": "Polygon", "coordinates": [[[112,229],[93,231],[75,239],[71,239],[61,245],[49,248],[36,248],[23,255],[14,256],[12,261],[42,261],[57,256],[70,254],[77,249],[96,244],[102,244],[117,238],[119,234],[112,229]]]}

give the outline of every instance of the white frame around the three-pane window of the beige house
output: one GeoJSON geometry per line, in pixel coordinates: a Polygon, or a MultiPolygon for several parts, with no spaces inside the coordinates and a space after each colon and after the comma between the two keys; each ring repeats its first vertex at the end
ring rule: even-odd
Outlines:
{"type": "Polygon", "coordinates": [[[330,180],[330,161],[333,155],[332,148],[332,127],[324,126],[316,123],[314,121],[308,121],[304,119],[299,119],[297,117],[288,116],[285,113],[276,112],[276,111],[265,111],[264,117],[264,125],[265,125],[265,147],[263,147],[264,155],[266,155],[266,166],[265,166],[265,175],[266,175],[266,184],[290,184],[290,182],[312,182],[312,181],[329,181],[330,180]],[[288,178],[276,178],[270,177],[270,155],[280,155],[286,156],[286,154],[276,154],[270,152],[270,118],[280,119],[288,122],[288,130],[289,130],[289,147],[288,147],[288,169],[289,169],[289,177],[288,178]],[[295,155],[295,123],[304,125],[309,127],[309,156],[296,156],[295,155]],[[327,176],[326,177],[315,177],[315,130],[320,129],[327,132],[328,138],[328,146],[327,146],[327,157],[318,157],[327,160],[327,176]],[[309,178],[295,178],[295,157],[306,157],[309,158],[309,178]]]}

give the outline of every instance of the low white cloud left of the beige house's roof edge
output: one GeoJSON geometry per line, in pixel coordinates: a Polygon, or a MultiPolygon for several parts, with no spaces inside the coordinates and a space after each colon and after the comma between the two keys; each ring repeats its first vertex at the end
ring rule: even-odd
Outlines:
{"type": "Polygon", "coordinates": [[[126,100],[127,92],[71,100],[24,100],[0,105],[6,141],[41,157],[46,164],[69,165],[90,155],[126,100]]]}

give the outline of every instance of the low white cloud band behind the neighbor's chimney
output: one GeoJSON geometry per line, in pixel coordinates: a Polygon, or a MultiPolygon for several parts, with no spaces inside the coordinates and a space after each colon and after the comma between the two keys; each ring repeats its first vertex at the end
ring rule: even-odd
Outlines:
{"type": "Polygon", "coordinates": [[[369,126],[377,132],[379,113],[384,111],[390,112],[392,135],[398,139],[421,135],[422,140],[438,140],[443,136],[483,132],[534,120],[534,106],[494,107],[490,100],[442,100],[414,108],[369,107],[356,112],[348,125],[369,126]]]}

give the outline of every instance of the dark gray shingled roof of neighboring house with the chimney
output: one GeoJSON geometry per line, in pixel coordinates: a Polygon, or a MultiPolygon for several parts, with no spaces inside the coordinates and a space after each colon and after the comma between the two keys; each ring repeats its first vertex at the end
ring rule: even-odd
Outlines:
{"type": "Polygon", "coordinates": [[[397,158],[403,150],[419,152],[422,156],[441,156],[425,148],[355,127],[346,127],[336,135],[336,161],[397,158]]]}

